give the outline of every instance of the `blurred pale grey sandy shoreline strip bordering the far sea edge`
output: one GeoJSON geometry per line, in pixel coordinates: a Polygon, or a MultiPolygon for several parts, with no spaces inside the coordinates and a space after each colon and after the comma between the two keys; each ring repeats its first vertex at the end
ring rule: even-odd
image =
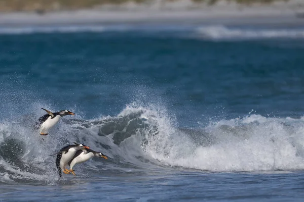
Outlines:
{"type": "Polygon", "coordinates": [[[268,6],[217,5],[199,9],[92,9],[36,13],[0,13],[0,26],[176,23],[176,24],[304,24],[303,7],[297,4],[268,6]]]}

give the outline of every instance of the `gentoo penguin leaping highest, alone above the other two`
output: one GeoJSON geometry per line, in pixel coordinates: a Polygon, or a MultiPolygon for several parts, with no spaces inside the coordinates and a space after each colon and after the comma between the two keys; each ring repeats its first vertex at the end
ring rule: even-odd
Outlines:
{"type": "MultiPolygon", "coordinates": [[[[43,108],[41,108],[41,109],[43,109],[43,108]]],[[[75,115],[74,113],[69,112],[67,110],[62,110],[60,112],[55,112],[55,113],[52,113],[46,109],[43,109],[43,110],[46,111],[48,114],[40,117],[38,120],[39,121],[38,125],[40,126],[41,135],[48,135],[49,129],[52,128],[53,126],[55,126],[61,117],[66,116],[66,115],[75,115]]]]}

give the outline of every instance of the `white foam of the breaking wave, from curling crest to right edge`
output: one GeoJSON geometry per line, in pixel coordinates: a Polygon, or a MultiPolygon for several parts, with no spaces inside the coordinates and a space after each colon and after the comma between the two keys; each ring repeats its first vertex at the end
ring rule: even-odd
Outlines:
{"type": "Polygon", "coordinates": [[[148,128],[138,130],[136,135],[122,142],[120,149],[124,149],[120,155],[128,153],[130,156],[125,157],[128,162],[134,163],[131,156],[141,154],[138,150],[141,137],[148,140],[147,144],[141,145],[145,154],[173,167],[209,171],[304,169],[303,118],[269,118],[252,114],[220,120],[200,129],[214,140],[212,145],[203,146],[197,141],[200,137],[179,132],[174,118],[157,106],[143,107],[133,103],[120,116],[140,111],[148,128]],[[158,130],[155,131],[154,127],[158,130]]]}

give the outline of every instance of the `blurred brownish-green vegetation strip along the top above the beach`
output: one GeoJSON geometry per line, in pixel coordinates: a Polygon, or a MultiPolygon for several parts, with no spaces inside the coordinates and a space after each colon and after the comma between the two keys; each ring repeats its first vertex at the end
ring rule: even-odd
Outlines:
{"type": "MultiPolygon", "coordinates": [[[[88,9],[105,4],[123,4],[127,2],[133,3],[146,3],[151,4],[153,2],[167,3],[176,2],[178,0],[0,0],[0,12],[12,12],[12,11],[35,11],[37,13],[44,13],[47,11],[58,10],[78,10],[88,9]]],[[[191,0],[194,3],[206,3],[213,5],[220,0],[191,0]]],[[[227,2],[237,2],[239,4],[254,4],[263,3],[269,4],[275,1],[288,1],[288,0],[226,0],[227,2]]],[[[304,0],[303,0],[304,1],[304,0]]]]}

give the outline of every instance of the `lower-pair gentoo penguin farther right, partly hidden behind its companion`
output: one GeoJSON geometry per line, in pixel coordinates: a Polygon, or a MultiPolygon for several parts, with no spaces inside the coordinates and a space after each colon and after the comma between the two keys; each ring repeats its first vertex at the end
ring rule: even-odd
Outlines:
{"type": "Polygon", "coordinates": [[[99,153],[97,151],[93,151],[92,149],[84,148],[84,149],[76,151],[76,154],[73,156],[72,160],[70,160],[68,162],[67,165],[70,166],[70,170],[69,171],[73,175],[75,175],[75,173],[73,171],[74,165],[86,162],[89,159],[91,159],[92,157],[101,157],[101,158],[107,159],[107,157],[104,156],[102,153],[99,153]]]}

